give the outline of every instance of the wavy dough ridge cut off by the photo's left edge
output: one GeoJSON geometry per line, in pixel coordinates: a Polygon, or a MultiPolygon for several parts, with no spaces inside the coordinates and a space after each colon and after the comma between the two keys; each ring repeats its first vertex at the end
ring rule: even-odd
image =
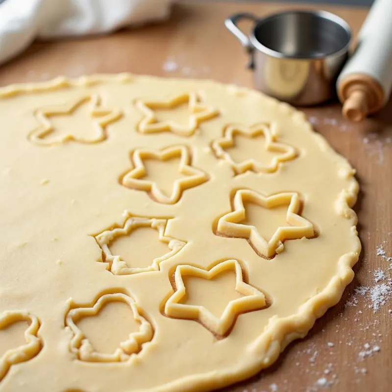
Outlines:
{"type": "Polygon", "coordinates": [[[1,330],[12,328],[12,325],[26,321],[28,326],[25,330],[25,344],[5,351],[0,357],[0,381],[7,374],[12,365],[26,362],[35,357],[42,348],[42,341],[38,336],[40,322],[37,317],[25,311],[6,311],[0,315],[0,334],[1,330]]]}

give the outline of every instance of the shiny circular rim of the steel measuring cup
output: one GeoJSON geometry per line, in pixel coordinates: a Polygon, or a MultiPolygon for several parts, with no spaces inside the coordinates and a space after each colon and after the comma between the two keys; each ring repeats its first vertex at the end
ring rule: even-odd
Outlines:
{"type": "Polygon", "coordinates": [[[325,59],[327,57],[335,57],[335,56],[339,56],[341,54],[344,54],[348,51],[348,47],[350,46],[350,42],[351,42],[351,38],[352,38],[352,31],[351,31],[351,27],[348,25],[348,23],[341,18],[340,16],[333,14],[332,12],[328,12],[328,11],[323,11],[323,10],[317,10],[317,11],[312,11],[312,10],[287,10],[287,11],[283,11],[283,12],[276,12],[274,14],[271,14],[269,16],[266,16],[265,18],[260,18],[256,20],[256,25],[253,27],[251,34],[249,35],[249,40],[250,43],[252,44],[252,46],[271,56],[271,57],[277,57],[277,58],[287,58],[287,59],[295,59],[295,60],[318,60],[318,59],[325,59]],[[270,49],[268,47],[266,47],[265,45],[263,45],[257,38],[255,35],[256,29],[264,24],[265,22],[268,22],[274,18],[280,17],[282,15],[287,15],[287,14],[308,14],[308,15],[316,15],[319,18],[322,19],[327,19],[331,22],[334,22],[337,25],[340,25],[344,31],[347,34],[347,42],[343,45],[343,47],[341,49],[338,49],[336,51],[332,51],[332,52],[326,52],[326,53],[317,53],[314,54],[312,56],[302,56],[302,55],[291,55],[291,54],[285,54],[282,52],[279,52],[277,50],[274,49],[270,49]]]}

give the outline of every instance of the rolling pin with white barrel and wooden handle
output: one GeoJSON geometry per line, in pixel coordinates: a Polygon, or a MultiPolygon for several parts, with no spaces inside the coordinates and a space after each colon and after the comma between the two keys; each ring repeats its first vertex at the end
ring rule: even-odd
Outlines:
{"type": "Polygon", "coordinates": [[[374,1],[336,88],[343,115],[352,121],[362,121],[387,103],[392,90],[392,0],[374,1]]]}

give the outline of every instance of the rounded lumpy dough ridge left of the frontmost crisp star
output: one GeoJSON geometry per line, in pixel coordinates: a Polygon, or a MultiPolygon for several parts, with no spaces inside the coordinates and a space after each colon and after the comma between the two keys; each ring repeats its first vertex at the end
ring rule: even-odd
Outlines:
{"type": "Polygon", "coordinates": [[[79,360],[86,362],[127,361],[132,354],[139,353],[142,349],[142,345],[150,342],[154,335],[151,323],[141,316],[140,313],[135,301],[130,296],[122,293],[104,294],[98,298],[98,301],[92,307],[74,307],[68,312],[65,319],[66,326],[73,332],[73,338],[70,343],[71,352],[73,352],[79,360]],[[121,301],[129,306],[133,318],[139,325],[139,330],[131,332],[128,335],[128,339],[121,342],[113,353],[102,353],[95,350],[76,323],[85,317],[97,316],[100,310],[112,301],[121,301]]]}

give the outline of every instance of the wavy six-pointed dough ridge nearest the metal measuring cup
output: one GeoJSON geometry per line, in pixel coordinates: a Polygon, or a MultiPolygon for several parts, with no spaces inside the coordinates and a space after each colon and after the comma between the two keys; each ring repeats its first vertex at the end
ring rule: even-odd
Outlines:
{"type": "Polygon", "coordinates": [[[212,142],[212,150],[217,158],[224,159],[231,165],[235,174],[242,174],[247,171],[256,173],[276,172],[281,163],[294,159],[297,154],[294,147],[276,142],[276,136],[270,131],[271,126],[266,123],[254,124],[252,126],[245,126],[239,123],[229,124],[224,128],[223,137],[212,142]],[[277,155],[272,158],[268,166],[261,164],[254,158],[236,162],[226,149],[235,147],[235,136],[237,135],[249,139],[262,136],[265,139],[265,149],[267,151],[277,151],[277,155]],[[280,154],[279,151],[281,151],[280,154]]]}

